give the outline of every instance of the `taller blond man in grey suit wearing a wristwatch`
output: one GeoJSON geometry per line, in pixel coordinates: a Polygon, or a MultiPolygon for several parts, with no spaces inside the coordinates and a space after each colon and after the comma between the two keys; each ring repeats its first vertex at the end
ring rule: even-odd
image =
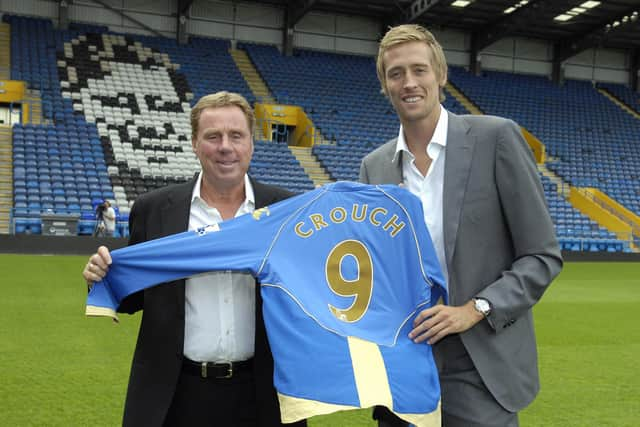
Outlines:
{"type": "Polygon", "coordinates": [[[422,311],[410,337],[434,345],[443,425],[517,426],[539,389],[531,309],[562,268],[535,162],[514,122],[442,107],[447,63],[425,28],[391,28],[377,72],[401,126],[360,180],[403,183],[422,200],[450,305],[422,311]]]}

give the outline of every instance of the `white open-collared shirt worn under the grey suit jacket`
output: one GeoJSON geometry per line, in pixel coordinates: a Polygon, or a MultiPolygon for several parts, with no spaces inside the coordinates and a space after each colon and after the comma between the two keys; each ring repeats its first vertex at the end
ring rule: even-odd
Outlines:
{"type": "Polygon", "coordinates": [[[444,159],[447,146],[447,129],[449,116],[447,110],[440,106],[440,118],[436,124],[431,141],[427,144],[427,155],[431,159],[431,165],[427,175],[423,176],[415,164],[415,156],[409,151],[404,139],[404,130],[400,126],[396,154],[394,161],[403,152],[402,156],[402,182],[406,188],[422,201],[424,210],[424,222],[431,235],[433,246],[438,256],[438,262],[442,268],[445,281],[449,282],[447,262],[444,255],[444,235],[442,226],[442,191],[444,188],[444,159]]]}

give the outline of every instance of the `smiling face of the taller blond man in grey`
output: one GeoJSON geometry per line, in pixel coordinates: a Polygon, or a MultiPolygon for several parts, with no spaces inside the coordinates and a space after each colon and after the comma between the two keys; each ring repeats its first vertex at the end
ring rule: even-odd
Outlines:
{"type": "Polygon", "coordinates": [[[431,48],[417,41],[394,46],[383,54],[385,87],[403,126],[440,111],[440,88],[446,77],[436,75],[432,57],[431,48]]]}

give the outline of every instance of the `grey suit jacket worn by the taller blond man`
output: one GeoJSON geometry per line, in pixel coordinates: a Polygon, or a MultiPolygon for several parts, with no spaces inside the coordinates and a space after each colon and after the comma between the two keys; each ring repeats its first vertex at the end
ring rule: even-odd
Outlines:
{"type": "MultiPolygon", "coordinates": [[[[518,411],[540,387],[531,308],[562,268],[560,248],[520,128],[448,114],[443,203],[433,209],[442,209],[449,303],[491,302],[488,321],[460,336],[489,391],[518,411]]],[[[360,180],[401,183],[395,149],[393,139],[367,155],[360,180]]]]}

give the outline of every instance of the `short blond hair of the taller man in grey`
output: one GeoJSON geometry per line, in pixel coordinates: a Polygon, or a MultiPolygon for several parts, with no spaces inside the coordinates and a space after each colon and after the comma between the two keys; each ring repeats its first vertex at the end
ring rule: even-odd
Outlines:
{"type": "MultiPolygon", "coordinates": [[[[383,56],[392,47],[409,42],[424,42],[431,48],[432,64],[436,78],[438,81],[442,81],[447,76],[447,59],[444,56],[442,46],[433,34],[426,28],[416,24],[403,24],[397,27],[392,27],[387,31],[378,47],[378,58],[376,60],[376,71],[378,73],[378,80],[382,86],[382,93],[387,95],[387,76],[385,74],[384,59],[383,56]]],[[[440,102],[444,101],[444,90],[440,89],[440,102]]]]}

